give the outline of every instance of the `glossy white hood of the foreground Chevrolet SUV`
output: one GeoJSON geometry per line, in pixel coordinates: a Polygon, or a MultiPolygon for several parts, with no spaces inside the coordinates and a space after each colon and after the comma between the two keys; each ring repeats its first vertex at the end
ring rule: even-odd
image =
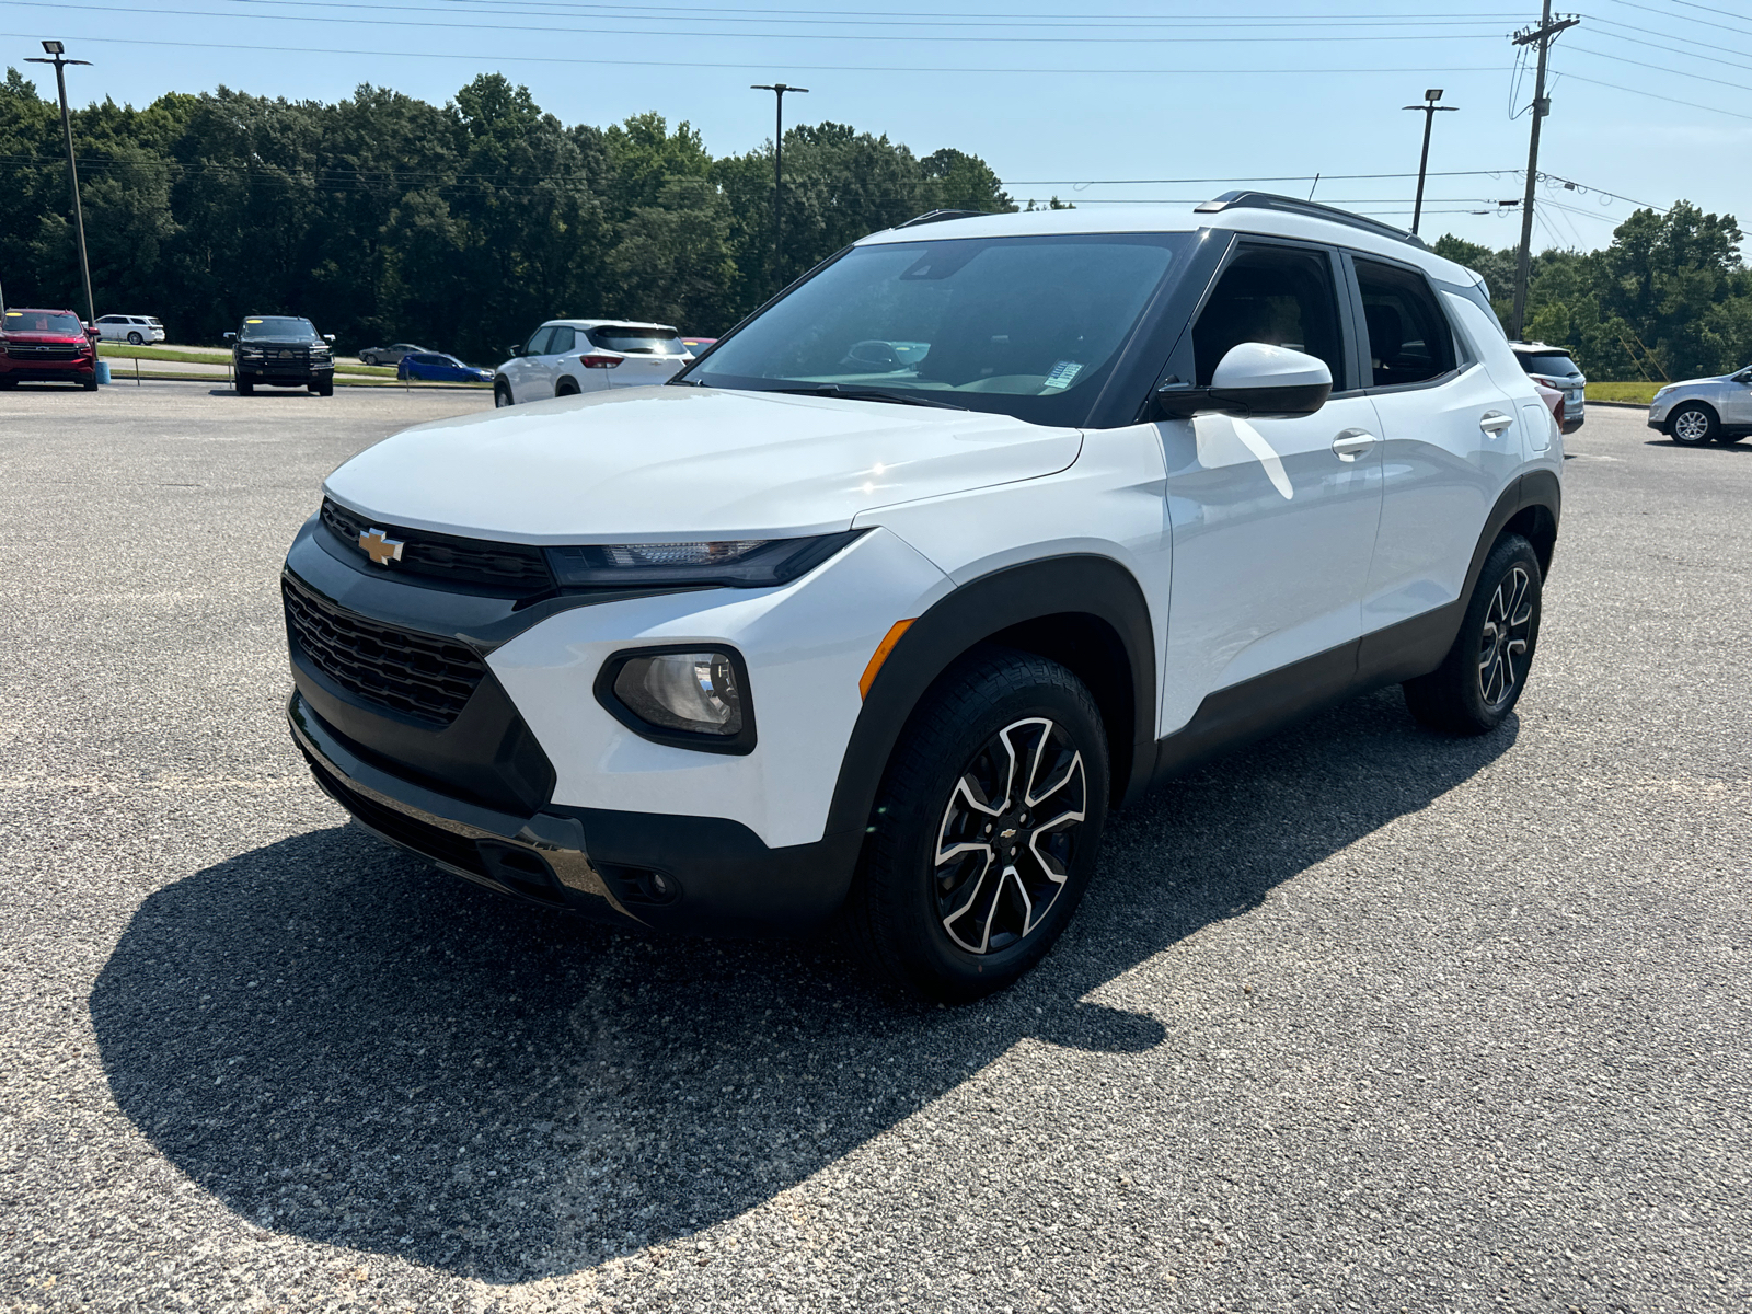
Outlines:
{"type": "Polygon", "coordinates": [[[324,491],[394,526],[513,543],[783,538],[1051,475],[1081,445],[1077,429],[983,412],[629,387],[406,429],[324,491]]]}

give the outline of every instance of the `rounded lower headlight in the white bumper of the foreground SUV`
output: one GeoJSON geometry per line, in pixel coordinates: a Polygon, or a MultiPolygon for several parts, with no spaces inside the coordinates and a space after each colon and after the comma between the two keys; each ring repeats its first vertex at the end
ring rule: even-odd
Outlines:
{"type": "Polygon", "coordinates": [[[596,697],[627,729],[708,753],[753,750],[746,689],[741,655],[704,646],[617,653],[596,680],[596,697]]]}

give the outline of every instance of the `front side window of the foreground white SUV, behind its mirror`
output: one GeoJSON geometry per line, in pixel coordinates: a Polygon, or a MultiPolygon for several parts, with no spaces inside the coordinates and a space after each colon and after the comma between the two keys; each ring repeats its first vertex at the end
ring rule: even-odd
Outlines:
{"type": "Polygon", "coordinates": [[[1318,356],[1333,387],[1346,387],[1339,296],[1325,251],[1242,247],[1193,324],[1198,387],[1211,387],[1218,361],[1242,342],[1318,356]]]}

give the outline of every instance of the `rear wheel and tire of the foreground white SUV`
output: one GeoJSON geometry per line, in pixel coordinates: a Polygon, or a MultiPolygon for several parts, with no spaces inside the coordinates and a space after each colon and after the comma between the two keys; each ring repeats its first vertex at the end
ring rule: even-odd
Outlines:
{"type": "Polygon", "coordinates": [[[1538,648],[1542,589],[1533,545],[1521,534],[1498,538],[1442,666],[1403,685],[1419,722],[1449,734],[1489,734],[1503,724],[1538,648]]]}

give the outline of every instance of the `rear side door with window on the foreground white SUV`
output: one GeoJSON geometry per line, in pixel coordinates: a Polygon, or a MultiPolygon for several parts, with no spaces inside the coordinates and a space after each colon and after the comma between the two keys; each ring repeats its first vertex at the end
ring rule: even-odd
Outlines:
{"type": "Polygon", "coordinates": [[[1521,466],[1528,417],[1456,338],[1419,268],[1361,254],[1346,266],[1382,438],[1370,634],[1459,601],[1484,520],[1521,466]]]}

